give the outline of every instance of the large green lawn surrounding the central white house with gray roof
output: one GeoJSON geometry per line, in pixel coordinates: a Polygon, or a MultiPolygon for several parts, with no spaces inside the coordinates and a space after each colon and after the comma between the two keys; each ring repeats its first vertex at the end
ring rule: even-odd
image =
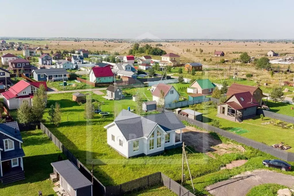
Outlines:
{"type": "MultiPolygon", "coordinates": [[[[163,172],[173,180],[179,181],[181,179],[181,148],[167,150],[165,153],[158,156],[143,156],[126,159],[107,145],[106,130],[103,126],[113,122],[115,116],[118,115],[122,109],[127,109],[128,106],[132,107],[136,105],[131,97],[113,101],[105,100],[101,95],[98,96],[93,94],[92,98],[96,101],[104,101],[105,104],[102,105],[101,109],[102,111],[110,112],[111,115],[104,118],[95,115],[94,119],[86,121],[83,118],[84,105],[78,105],[78,103],[73,102],[71,100],[71,93],[63,93],[50,94],[47,104],[47,107],[50,107],[50,105],[54,104],[56,101],[60,103],[62,122],[59,127],[55,127],[49,123],[47,119],[48,109],[46,109],[44,120],[46,120],[45,124],[49,130],[51,130],[51,132],[60,139],[64,146],[66,146],[66,148],[68,148],[89,169],[91,168],[91,161],[94,162],[94,175],[103,183],[103,185],[117,185],[157,171],[163,172]]],[[[12,111],[11,113],[15,115],[15,111],[12,111]]],[[[216,134],[213,135],[223,143],[233,142],[216,134]]],[[[240,172],[263,168],[261,161],[263,159],[273,158],[271,155],[267,155],[246,146],[245,149],[247,150],[245,153],[235,152],[222,156],[215,154],[216,159],[203,153],[187,150],[186,153],[190,164],[191,174],[194,179],[193,181],[196,182],[196,193],[198,195],[207,194],[204,190],[207,185],[228,179],[240,172]],[[233,170],[220,171],[220,167],[223,165],[239,159],[248,159],[248,162],[233,170]]],[[[38,153],[43,154],[43,152],[38,153]]],[[[51,172],[51,167],[49,167],[48,172],[51,172]]],[[[287,173],[292,174],[292,172],[287,173]]],[[[188,170],[186,169],[185,174],[186,176],[189,175],[188,170]]],[[[184,186],[191,190],[189,180],[184,183],[184,186]]],[[[152,192],[152,189],[150,192],[152,192]]],[[[157,187],[156,189],[161,188],[157,187]]],[[[147,192],[146,194],[148,195],[149,193],[147,192]]],[[[150,194],[152,195],[152,193],[150,194]]]]}

